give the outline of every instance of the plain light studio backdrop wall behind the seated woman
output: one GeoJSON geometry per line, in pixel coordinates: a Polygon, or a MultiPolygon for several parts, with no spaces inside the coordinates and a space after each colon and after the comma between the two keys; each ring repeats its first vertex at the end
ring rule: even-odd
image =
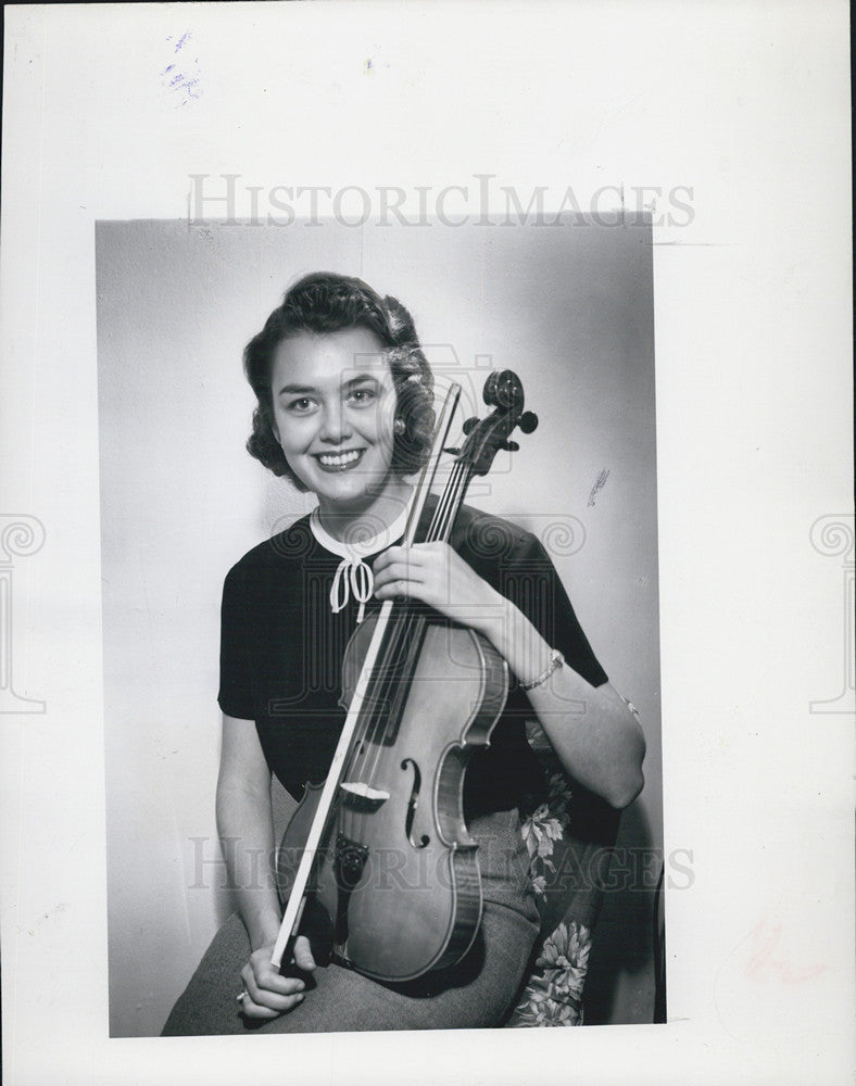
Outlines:
{"type": "Polygon", "coordinates": [[[436,372],[464,386],[461,418],[490,368],[514,369],[540,416],[467,500],[542,539],[639,707],[646,783],[618,845],[641,862],[606,895],[587,1015],[650,1022],[663,842],[650,225],[115,222],[96,241],[111,1035],[160,1032],[231,908],[214,821],[223,578],[314,505],[243,449],[241,352],[313,270],[398,296],[436,372]]]}

